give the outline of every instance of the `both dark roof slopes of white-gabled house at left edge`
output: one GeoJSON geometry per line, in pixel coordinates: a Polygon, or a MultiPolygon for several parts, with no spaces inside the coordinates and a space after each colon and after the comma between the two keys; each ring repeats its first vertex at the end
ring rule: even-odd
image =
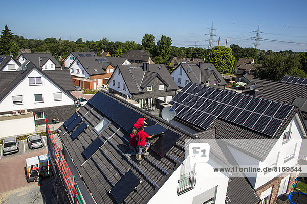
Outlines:
{"type": "Polygon", "coordinates": [[[0,101],[2,101],[2,99],[4,99],[13,88],[15,88],[21,81],[23,81],[33,69],[37,70],[38,72],[40,72],[41,75],[48,78],[51,82],[57,85],[63,92],[67,93],[71,98],[77,100],[77,98],[74,97],[69,92],[71,90],[74,90],[73,88],[71,88],[72,81],[69,72],[65,70],[42,71],[36,65],[29,62],[27,64],[26,71],[20,70],[20,71],[0,72],[0,101]],[[69,84],[71,84],[71,86],[69,84]]]}

